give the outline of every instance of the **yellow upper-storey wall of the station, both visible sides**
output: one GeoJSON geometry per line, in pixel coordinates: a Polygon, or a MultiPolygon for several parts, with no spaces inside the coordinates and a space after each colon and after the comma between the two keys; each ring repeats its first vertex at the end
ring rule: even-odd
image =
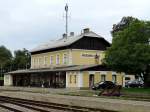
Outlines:
{"type": "Polygon", "coordinates": [[[65,65],[101,64],[104,56],[104,51],[81,49],[66,49],[47,53],[40,53],[31,56],[31,68],[34,69],[65,65]],[[66,55],[65,62],[64,55],[66,55]],[[96,55],[99,57],[98,59],[95,59],[96,55]],[[57,62],[57,56],[59,57],[59,63],[57,62]]]}

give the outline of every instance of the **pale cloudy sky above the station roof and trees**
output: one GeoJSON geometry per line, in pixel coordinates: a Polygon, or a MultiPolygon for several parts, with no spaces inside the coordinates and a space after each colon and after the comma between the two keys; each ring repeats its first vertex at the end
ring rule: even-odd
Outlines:
{"type": "Polygon", "coordinates": [[[69,32],[90,28],[109,42],[113,24],[123,16],[150,19],[150,0],[0,0],[0,46],[31,50],[61,38],[66,3],[69,32]]]}

